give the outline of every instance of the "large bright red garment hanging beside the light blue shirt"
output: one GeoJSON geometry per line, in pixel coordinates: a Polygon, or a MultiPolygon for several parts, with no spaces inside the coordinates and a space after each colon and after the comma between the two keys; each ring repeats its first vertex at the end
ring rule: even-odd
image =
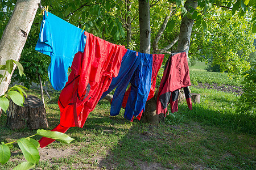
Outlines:
{"type": "MultiPolygon", "coordinates": [[[[84,53],[75,54],[68,82],[60,93],[60,125],[52,131],[65,132],[69,127],[82,128],[100,100],[108,90],[112,79],[118,75],[125,46],[115,45],[85,32],[87,37],[84,53]]],[[[40,139],[45,147],[53,139],[40,139]]]]}

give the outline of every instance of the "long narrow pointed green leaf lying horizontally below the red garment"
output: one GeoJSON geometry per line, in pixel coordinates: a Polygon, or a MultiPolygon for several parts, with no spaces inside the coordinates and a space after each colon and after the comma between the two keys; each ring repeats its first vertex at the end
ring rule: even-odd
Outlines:
{"type": "Polygon", "coordinates": [[[46,131],[43,129],[38,129],[36,131],[36,134],[42,137],[55,139],[56,141],[59,141],[62,143],[70,143],[71,141],[75,140],[69,137],[67,134],[60,133],[59,131],[46,131]]]}

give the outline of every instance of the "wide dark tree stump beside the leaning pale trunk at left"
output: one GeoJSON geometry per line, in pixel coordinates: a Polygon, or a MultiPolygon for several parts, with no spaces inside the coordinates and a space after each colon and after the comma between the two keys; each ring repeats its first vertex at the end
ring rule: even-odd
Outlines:
{"type": "Polygon", "coordinates": [[[27,95],[24,107],[10,101],[6,127],[10,129],[44,129],[48,128],[46,109],[43,102],[36,96],[27,95]]]}

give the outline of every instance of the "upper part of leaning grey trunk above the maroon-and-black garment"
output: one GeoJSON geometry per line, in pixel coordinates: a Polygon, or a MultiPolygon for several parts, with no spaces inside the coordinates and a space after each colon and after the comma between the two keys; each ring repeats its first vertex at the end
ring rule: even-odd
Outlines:
{"type": "MultiPolygon", "coordinates": [[[[188,11],[190,11],[191,8],[197,7],[197,1],[187,0],[184,6],[188,11]]],[[[179,41],[177,45],[177,52],[182,52],[185,50],[185,52],[188,54],[193,22],[194,20],[187,18],[187,16],[184,16],[182,18],[180,25],[179,41]]]]}

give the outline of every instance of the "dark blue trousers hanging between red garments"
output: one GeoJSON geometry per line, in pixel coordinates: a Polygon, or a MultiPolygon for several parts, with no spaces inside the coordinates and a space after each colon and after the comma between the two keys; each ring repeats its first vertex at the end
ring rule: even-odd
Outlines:
{"type": "Polygon", "coordinates": [[[152,54],[127,50],[125,56],[123,56],[118,76],[113,78],[109,90],[101,96],[101,99],[103,99],[117,87],[113,95],[110,115],[116,116],[119,114],[123,96],[130,82],[131,91],[128,96],[124,117],[127,120],[131,120],[133,116],[138,116],[144,108],[150,92],[151,76],[152,54]]]}

